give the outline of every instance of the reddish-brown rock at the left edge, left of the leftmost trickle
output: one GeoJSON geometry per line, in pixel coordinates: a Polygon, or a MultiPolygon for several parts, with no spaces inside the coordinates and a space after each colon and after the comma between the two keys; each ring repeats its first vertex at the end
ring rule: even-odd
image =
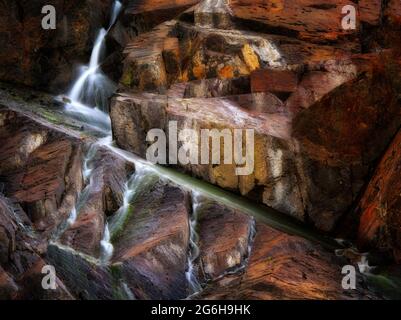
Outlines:
{"type": "Polygon", "coordinates": [[[1,172],[7,195],[27,208],[36,228],[51,230],[68,215],[81,190],[81,145],[78,139],[28,116],[7,110],[2,115],[6,119],[1,129],[5,163],[16,156],[7,141],[15,136],[28,137],[17,147],[20,164],[6,166],[1,172]],[[35,132],[45,134],[35,136],[35,132]]]}

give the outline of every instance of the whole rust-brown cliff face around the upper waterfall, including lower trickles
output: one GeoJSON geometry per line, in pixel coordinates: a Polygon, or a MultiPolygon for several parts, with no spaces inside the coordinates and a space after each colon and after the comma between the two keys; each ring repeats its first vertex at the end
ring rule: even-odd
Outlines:
{"type": "Polygon", "coordinates": [[[66,92],[111,1],[52,4],[46,32],[41,1],[0,4],[0,299],[389,297],[328,236],[401,259],[399,1],[353,2],[348,31],[347,1],[124,1],[101,65],[116,145],[33,90],[66,92]],[[144,164],[171,121],[254,129],[254,171],[144,164]]]}

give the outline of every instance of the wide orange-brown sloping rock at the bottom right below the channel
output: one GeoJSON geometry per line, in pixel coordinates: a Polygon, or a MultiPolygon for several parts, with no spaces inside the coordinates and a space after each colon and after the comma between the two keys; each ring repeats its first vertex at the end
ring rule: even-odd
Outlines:
{"type": "Polygon", "coordinates": [[[347,261],[317,244],[257,224],[243,275],[228,276],[206,288],[201,299],[375,299],[358,277],[356,290],[341,286],[347,261]]]}

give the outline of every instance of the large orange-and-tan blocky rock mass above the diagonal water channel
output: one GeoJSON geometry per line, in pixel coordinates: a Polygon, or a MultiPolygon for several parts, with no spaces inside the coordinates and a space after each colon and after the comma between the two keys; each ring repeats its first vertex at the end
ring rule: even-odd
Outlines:
{"type": "Polygon", "coordinates": [[[148,131],[168,132],[170,121],[179,130],[252,128],[253,174],[181,167],[332,231],[401,124],[397,51],[360,45],[363,25],[389,27],[389,7],[362,2],[351,32],[339,23],[342,5],[203,1],[138,36],[111,110],[117,143],[145,157],[148,131]]]}

